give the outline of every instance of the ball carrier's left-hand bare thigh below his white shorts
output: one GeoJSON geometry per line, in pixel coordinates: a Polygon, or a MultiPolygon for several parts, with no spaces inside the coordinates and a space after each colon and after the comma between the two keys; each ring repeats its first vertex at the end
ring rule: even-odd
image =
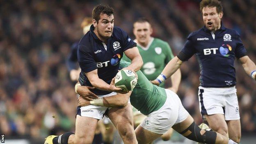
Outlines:
{"type": "Polygon", "coordinates": [[[75,144],[91,144],[97,127],[98,119],[76,116],[75,144]]]}

